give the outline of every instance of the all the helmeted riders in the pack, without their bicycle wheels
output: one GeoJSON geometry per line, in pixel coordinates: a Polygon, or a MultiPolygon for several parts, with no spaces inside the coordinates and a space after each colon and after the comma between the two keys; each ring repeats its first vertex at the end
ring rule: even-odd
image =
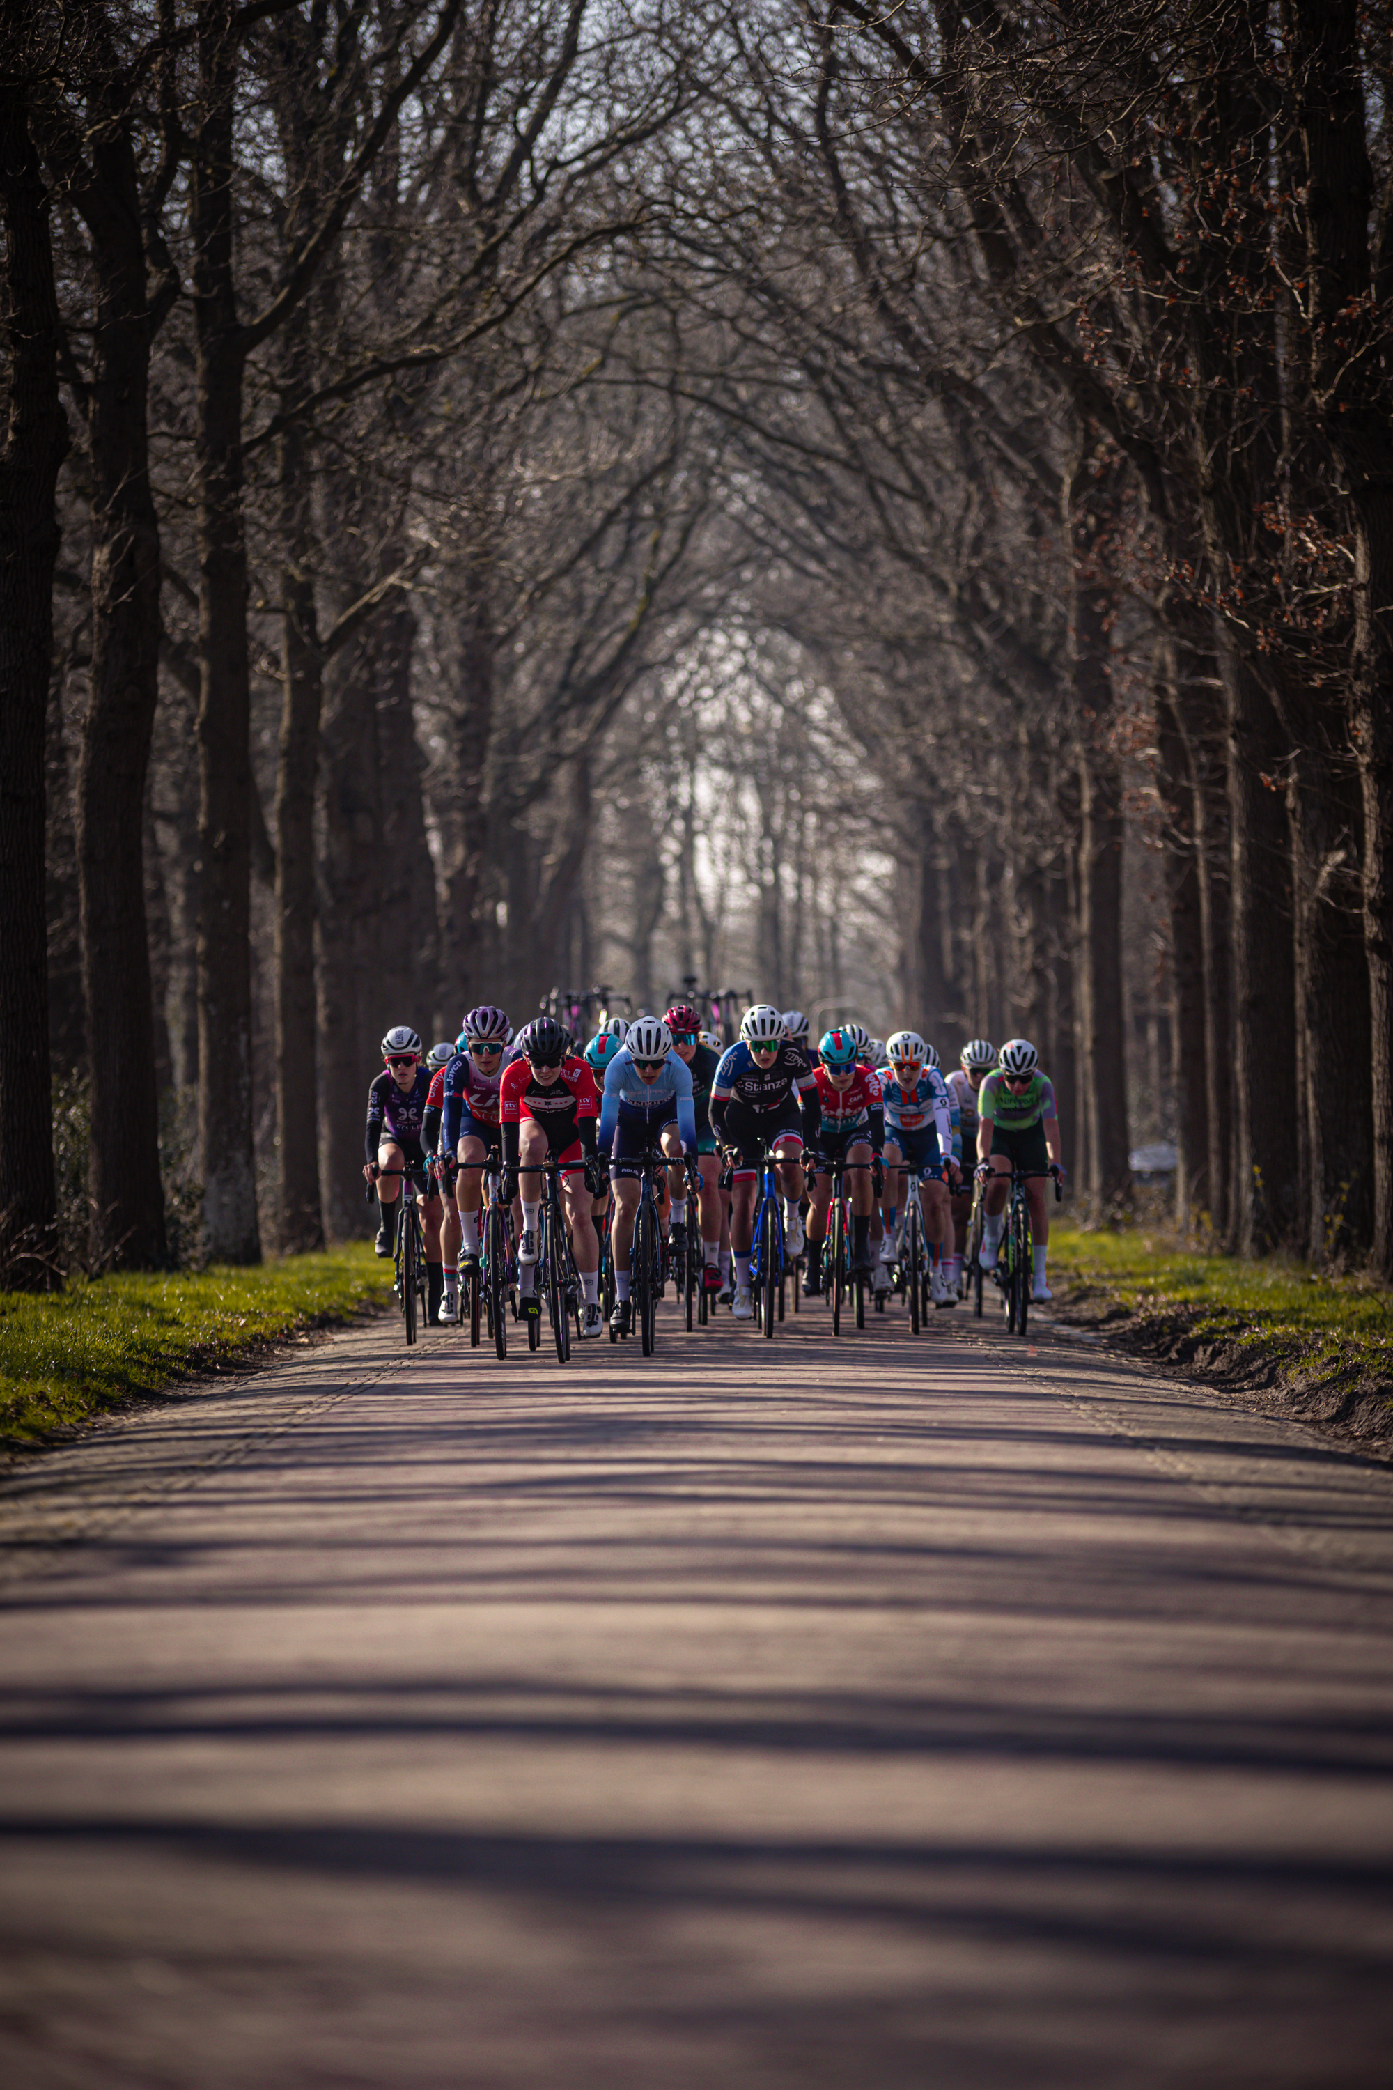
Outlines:
{"type": "MultiPolygon", "coordinates": [[[[395,1252],[407,1181],[420,1181],[426,1315],[459,1319],[462,1275],[478,1273],[487,1198],[512,1210],[518,1310],[539,1317],[537,1262],[543,1175],[560,1187],[581,1333],[606,1333],[601,1256],[614,1308],[610,1333],[633,1325],[631,1250],[643,1172],[660,1204],[664,1271],[689,1260],[700,1229],[702,1287],[737,1321],[754,1317],[750,1246],[760,1172],[773,1168],[783,1250],[802,1260],[802,1296],[825,1287],[833,1170],[848,1183],[850,1271],[883,1302],[894,1285],[908,1200],[919,1198],[929,1252],[927,1298],[963,1292],[963,1250],[982,1185],[982,1271],[996,1267],[1002,1212],[1023,1179],[1032,1216],[1032,1298],[1048,1300],[1044,1183],[1063,1181],[1055,1091],[1028,1039],[1000,1051],[971,1039],[944,1074],[917,1030],[873,1039],[835,1024],[817,1045],[800,1009],[746,1009],[731,1045],[687,1001],[635,1022],[614,1016],[587,1041],[553,1016],[514,1037],[482,1003],[459,1037],[422,1053],[409,1024],[382,1039],[384,1068],[368,1091],[363,1177],[376,1187],[380,1256],[395,1252]]],[[[370,1189],[372,1193],[372,1189],[370,1189]]]]}

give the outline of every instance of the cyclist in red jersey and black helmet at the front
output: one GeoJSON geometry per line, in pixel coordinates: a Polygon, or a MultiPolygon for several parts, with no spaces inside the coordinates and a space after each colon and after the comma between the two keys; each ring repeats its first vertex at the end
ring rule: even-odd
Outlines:
{"type": "MultiPolygon", "coordinates": [[[[537,1298],[537,1233],[541,1223],[541,1162],[551,1158],[562,1170],[562,1210],[570,1227],[570,1248],[585,1290],[583,1336],[601,1336],[599,1244],[591,1221],[591,1198],[599,1181],[595,1124],[599,1095],[585,1060],[564,1049],[566,1032],[553,1016],[537,1016],[518,1032],[520,1055],[503,1068],[499,1122],[503,1129],[503,1200],[522,1195],[518,1237],[518,1294],[528,1319],[541,1315],[537,1298]],[[579,1181],[576,1181],[579,1179],[579,1181]],[[587,1195],[589,1185],[589,1195],[587,1195]]],[[[558,1302],[566,1310],[566,1302],[558,1302]]]]}

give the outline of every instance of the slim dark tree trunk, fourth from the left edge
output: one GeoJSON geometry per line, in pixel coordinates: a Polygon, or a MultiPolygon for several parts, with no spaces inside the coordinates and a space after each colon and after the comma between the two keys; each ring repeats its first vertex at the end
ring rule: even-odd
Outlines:
{"type": "MultiPolygon", "coordinates": [[[[290,339],[290,382],[307,357],[290,339]]],[[[282,573],[280,754],[276,769],[276,1235],[282,1254],[324,1246],[320,1074],[315,1037],[315,782],[324,658],[315,610],[309,443],[292,422],[280,441],[282,573]]]]}

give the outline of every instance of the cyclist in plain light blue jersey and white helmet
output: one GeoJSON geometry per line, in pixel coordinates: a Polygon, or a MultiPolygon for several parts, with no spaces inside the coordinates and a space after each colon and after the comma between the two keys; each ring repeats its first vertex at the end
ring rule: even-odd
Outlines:
{"type": "MultiPolygon", "coordinates": [[[[610,1150],[610,1183],[614,1187],[614,1317],[610,1327],[627,1336],[633,1327],[629,1298],[633,1221],[639,1210],[639,1156],[654,1143],[681,1168],[683,1156],[695,1166],[695,1108],[691,1099],[691,1068],[672,1051],[672,1032],[658,1016],[639,1016],[629,1026],[622,1051],[606,1068],[599,1106],[599,1145],[610,1150]]],[[[670,1175],[670,1170],[666,1170],[670,1175]]],[[[666,1204],[666,1175],[658,1179],[660,1206],[666,1204]]],[[[683,1193],[687,1185],[683,1179],[683,1193]]],[[[658,1212],[662,1225],[662,1208],[658,1212]]],[[[672,1225],[677,1235],[677,1225],[672,1225]]],[[[677,1244],[672,1244],[677,1254],[677,1244]]],[[[687,1254],[685,1233],[681,1254],[687,1254]]]]}

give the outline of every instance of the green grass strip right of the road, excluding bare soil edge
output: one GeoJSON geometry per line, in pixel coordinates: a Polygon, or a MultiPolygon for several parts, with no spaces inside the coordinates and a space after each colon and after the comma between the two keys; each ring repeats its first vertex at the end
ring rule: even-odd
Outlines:
{"type": "Polygon", "coordinates": [[[1261,1346],[1284,1375],[1393,1381],[1393,1292],[1366,1277],[1178,1248],[1144,1227],[1050,1227],[1050,1283],[1067,1308],[1184,1321],[1203,1340],[1261,1346]]]}

